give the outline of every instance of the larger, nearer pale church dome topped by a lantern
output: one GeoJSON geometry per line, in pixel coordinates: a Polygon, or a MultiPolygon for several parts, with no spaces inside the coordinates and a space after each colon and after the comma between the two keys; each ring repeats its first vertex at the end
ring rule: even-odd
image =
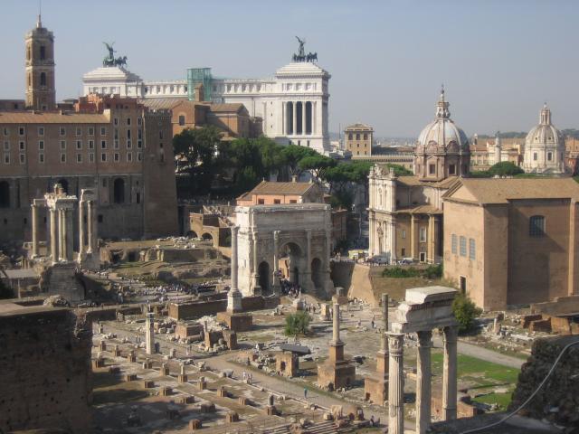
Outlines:
{"type": "Polygon", "coordinates": [[[464,131],[451,119],[450,104],[444,100],[444,89],[436,104],[436,118],[422,129],[416,151],[432,150],[434,152],[469,152],[469,139],[464,131]]]}

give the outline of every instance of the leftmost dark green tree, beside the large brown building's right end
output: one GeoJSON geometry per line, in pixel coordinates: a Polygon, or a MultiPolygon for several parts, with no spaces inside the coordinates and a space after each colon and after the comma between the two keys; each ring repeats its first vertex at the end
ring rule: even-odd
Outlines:
{"type": "Polygon", "coordinates": [[[173,137],[173,151],[179,162],[178,172],[189,175],[192,193],[209,193],[215,175],[221,170],[223,144],[219,129],[185,128],[173,137]]]}

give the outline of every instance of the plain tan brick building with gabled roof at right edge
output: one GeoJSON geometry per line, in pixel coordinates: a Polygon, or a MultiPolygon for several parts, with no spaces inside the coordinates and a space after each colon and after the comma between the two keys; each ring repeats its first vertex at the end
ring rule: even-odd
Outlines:
{"type": "Polygon", "coordinates": [[[444,277],[479,307],[579,294],[573,179],[460,179],[443,201],[444,277]]]}

